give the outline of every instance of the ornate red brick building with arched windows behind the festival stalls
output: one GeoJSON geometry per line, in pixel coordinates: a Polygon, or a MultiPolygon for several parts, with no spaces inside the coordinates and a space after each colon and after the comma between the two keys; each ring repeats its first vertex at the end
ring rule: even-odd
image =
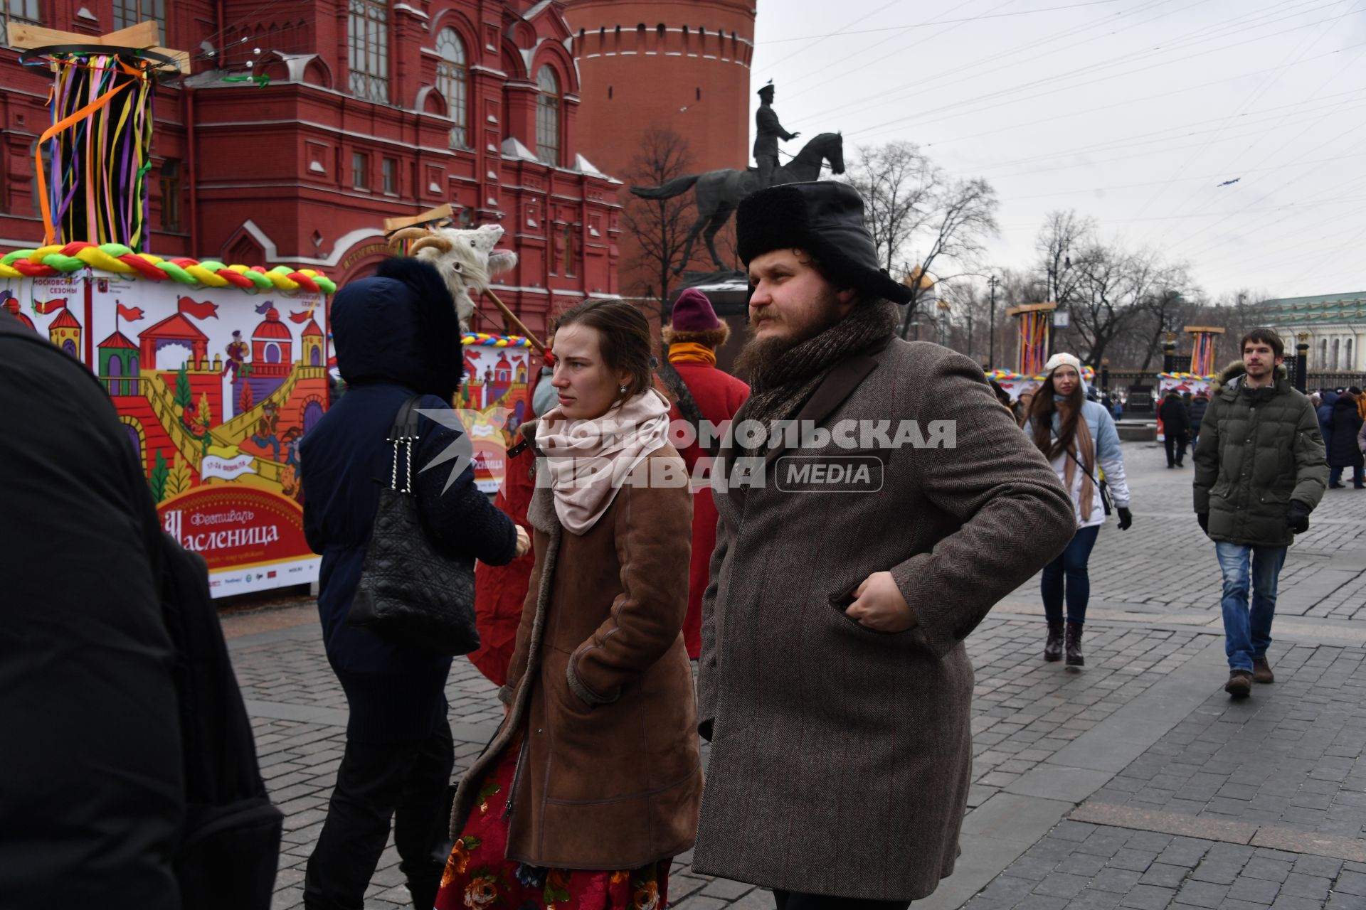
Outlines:
{"type": "MultiPolygon", "coordinates": [[[[148,251],[307,265],[340,284],[385,255],[385,217],[449,202],[462,224],[507,229],[503,246],[520,262],[499,296],[541,330],[552,300],[617,289],[619,184],[581,154],[563,7],[7,0],[0,25],[102,34],[156,18],[163,44],[191,53],[193,75],[156,100],[148,251]]],[[[0,85],[8,251],[42,237],[33,156],[51,126],[49,79],[5,49],[0,85]]]]}

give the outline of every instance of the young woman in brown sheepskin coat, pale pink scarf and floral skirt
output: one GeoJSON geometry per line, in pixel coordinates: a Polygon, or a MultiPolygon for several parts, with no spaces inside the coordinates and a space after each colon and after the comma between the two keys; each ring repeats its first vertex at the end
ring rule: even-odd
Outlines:
{"type": "Polygon", "coordinates": [[[555,356],[559,405],[523,428],[535,568],[507,718],[456,793],[438,910],[656,910],[697,831],[693,503],[649,323],[622,302],[583,303],[560,318],[555,356]]]}

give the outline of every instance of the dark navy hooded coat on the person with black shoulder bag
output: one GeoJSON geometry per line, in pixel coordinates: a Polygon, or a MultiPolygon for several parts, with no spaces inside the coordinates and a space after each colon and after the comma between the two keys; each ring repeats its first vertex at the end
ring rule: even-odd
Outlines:
{"type": "MultiPolygon", "coordinates": [[[[385,441],[403,401],[422,393],[422,408],[449,408],[459,386],[459,323],[451,295],[432,266],[391,259],[380,276],[348,284],[332,302],[332,337],[347,393],[303,438],[303,531],[322,554],[318,615],[328,660],[351,708],[348,735],[393,741],[425,737],[445,718],[443,690],[451,659],[391,644],[346,623],[361,580],[380,490],[389,483],[385,441]]],[[[421,471],[455,430],[422,419],[413,458],[418,508],[437,538],[489,565],[516,550],[511,518],[474,486],[466,467],[443,493],[448,468],[421,471]]]]}

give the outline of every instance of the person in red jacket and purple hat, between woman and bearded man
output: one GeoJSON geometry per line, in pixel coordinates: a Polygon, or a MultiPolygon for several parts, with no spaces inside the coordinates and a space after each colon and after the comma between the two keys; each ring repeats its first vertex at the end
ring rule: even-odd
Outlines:
{"type": "Polygon", "coordinates": [[[679,452],[688,476],[694,479],[693,562],[688,568],[683,641],[688,656],[697,659],[702,654],[702,593],[706,591],[712,548],[716,547],[716,502],[712,499],[712,484],[706,482],[708,464],[716,457],[720,434],[750,397],[750,387],[716,368],[716,349],[731,337],[731,327],[716,317],[705,293],[687,288],[673,303],[669,319],[669,325],[664,326],[668,364],[660,367],[660,379],[673,397],[669,419],[686,420],[699,431],[698,438],[679,452]],[[717,434],[703,439],[706,428],[717,434]],[[708,443],[705,447],[703,442],[708,443]]]}

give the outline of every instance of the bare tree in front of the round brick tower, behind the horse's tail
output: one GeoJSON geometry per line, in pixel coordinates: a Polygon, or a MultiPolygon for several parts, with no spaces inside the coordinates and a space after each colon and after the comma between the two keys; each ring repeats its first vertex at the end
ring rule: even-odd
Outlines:
{"type": "MultiPolygon", "coordinates": [[[[623,177],[628,186],[657,187],[688,173],[693,153],[687,138],[652,126],[641,136],[641,146],[623,177]]],[[[667,315],[673,269],[683,261],[688,229],[695,220],[691,194],[672,199],[642,199],[623,194],[622,232],[635,243],[637,254],[626,263],[632,276],[630,291],[637,297],[657,300],[660,321],[667,315]]]]}

